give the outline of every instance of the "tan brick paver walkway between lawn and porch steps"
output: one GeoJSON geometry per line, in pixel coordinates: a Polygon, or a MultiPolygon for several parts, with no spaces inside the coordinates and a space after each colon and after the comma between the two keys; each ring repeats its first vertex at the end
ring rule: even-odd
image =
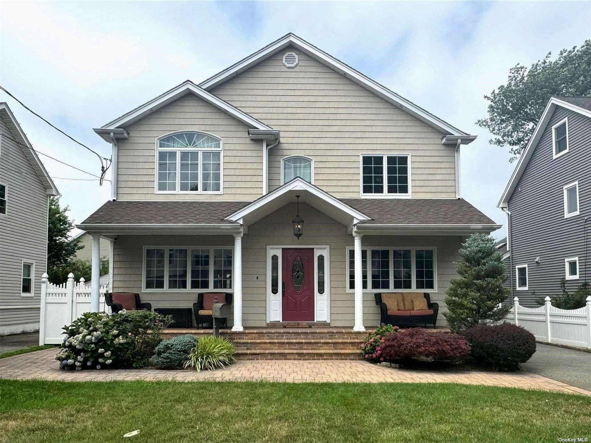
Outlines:
{"type": "Polygon", "coordinates": [[[248,360],[212,372],[190,370],[82,370],[57,369],[53,359],[56,351],[22,354],[0,359],[0,377],[8,379],[64,380],[68,382],[110,380],[271,380],[275,382],[409,382],[409,383],[466,383],[468,385],[509,386],[525,389],[543,389],[578,393],[591,396],[591,392],[528,372],[485,371],[428,371],[391,369],[366,361],[339,360],[248,360]]]}

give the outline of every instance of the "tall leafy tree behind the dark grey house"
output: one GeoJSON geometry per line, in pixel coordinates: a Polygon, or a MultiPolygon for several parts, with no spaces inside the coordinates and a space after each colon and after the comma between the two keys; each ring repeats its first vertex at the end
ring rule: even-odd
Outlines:
{"type": "Polygon", "coordinates": [[[551,96],[591,95],[591,40],[578,49],[561,50],[554,61],[551,54],[529,70],[516,64],[509,69],[507,84],[484,96],[490,102],[488,118],[476,124],[496,135],[489,143],[510,146],[510,161],[525,149],[551,96]]]}

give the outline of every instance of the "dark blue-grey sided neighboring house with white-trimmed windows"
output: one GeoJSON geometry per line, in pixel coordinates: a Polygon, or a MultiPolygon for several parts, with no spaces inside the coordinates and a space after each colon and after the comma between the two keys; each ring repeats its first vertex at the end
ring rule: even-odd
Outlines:
{"type": "Polygon", "coordinates": [[[591,276],[591,97],[551,97],[498,203],[511,297],[537,306],[591,276]]]}

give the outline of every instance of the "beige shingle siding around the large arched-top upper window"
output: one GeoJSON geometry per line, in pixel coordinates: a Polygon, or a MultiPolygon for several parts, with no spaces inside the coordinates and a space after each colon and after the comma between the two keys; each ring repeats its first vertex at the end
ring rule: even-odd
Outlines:
{"type": "Polygon", "coordinates": [[[254,200],[262,193],[262,142],[248,127],[193,95],[181,97],[126,128],[119,141],[118,200],[254,200]],[[223,194],[156,194],[155,140],[174,131],[223,139],[223,194]]]}

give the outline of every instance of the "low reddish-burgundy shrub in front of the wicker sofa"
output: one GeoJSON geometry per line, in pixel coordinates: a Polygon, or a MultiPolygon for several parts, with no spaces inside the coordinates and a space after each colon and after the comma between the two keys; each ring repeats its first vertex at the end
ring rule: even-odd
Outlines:
{"type": "Polygon", "coordinates": [[[413,328],[388,334],[378,351],[381,351],[384,361],[398,363],[408,360],[456,362],[469,356],[470,345],[459,334],[413,328]]]}

